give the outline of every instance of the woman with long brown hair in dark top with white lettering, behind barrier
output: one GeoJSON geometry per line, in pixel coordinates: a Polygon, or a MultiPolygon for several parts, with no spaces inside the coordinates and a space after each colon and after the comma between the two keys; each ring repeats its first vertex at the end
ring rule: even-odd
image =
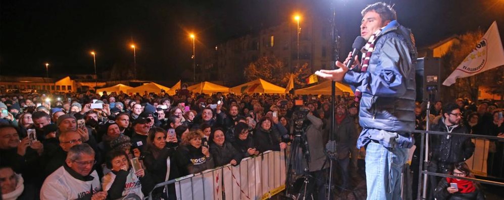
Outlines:
{"type": "MultiPolygon", "coordinates": [[[[175,158],[177,137],[168,135],[162,128],[154,128],[147,137],[147,144],[143,150],[144,163],[150,174],[153,175],[154,183],[158,184],[167,180],[180,177],[175,158]]],[[[175,185],[167,185],[154,191],[155,197],[176,199],[175,185]],[[168,196],[166,196],[168,195],[168,196]]],[[[157,198],[155,198],[157,199],[157,198]]]]}

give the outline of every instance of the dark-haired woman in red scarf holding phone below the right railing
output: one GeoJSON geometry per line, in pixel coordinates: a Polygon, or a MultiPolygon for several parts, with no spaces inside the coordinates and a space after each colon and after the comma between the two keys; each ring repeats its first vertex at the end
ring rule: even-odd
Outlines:
{"type": "MultiPolygon", "coordinates": [[[[470,177],[474,178],[474,175],[470,174],[471,170],[465,162],[457,163],[453,166],[451,174],[459,177],[470,177]]],[[[470,180],[463,180],[457,178],[442,178],[434,191],[434,197],[436,199],[485,199],[485,195],[479,189],[479,185],[470,180]],[[455,187],[455,184],[457,187],[455,187]],[[453,185],[453,186],[452,186],[453,185]]]]}

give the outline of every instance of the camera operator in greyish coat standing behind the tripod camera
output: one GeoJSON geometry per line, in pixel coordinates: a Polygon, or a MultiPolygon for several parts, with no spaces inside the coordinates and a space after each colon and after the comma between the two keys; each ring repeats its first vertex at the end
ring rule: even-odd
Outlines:
{"type": "MultiPolygon", "coordinates": [[[[322,131],[322,119],[316,117],[313,112],[308,107],[303,107],[300,110],[294,113],[295,121],[292,123],[294,126],[299,126],[299,121],[303,120],[301,126],[303,126],[304,132],[297,132],[299,130],[298,127],[294,127],[293,133],[294,135],[306,134],[306,139],[308,141],[308,152],[305,150],[303,153],[305,156],[309,157],[308,161],[308,170],[310,172],[309,184],[307,187],[306,196],[310,196],[313,194],[314,199],[325,199],[325,179],[326,177],[326,169],[327,165],[324,165],[326,160],[326,155],[324,154],[324,140],[323,140],[323,131],[322,131]],[[306,116],[302,112],[307,112],[306,116]],[[296,123],[297,121],[297,123],[296,123]],[[306,154],[309,155],[306,155],[306,154]]],[[[293,152],[294,150],[291,150],[293,152]]],[[[306,160],[303,160],[305,162],[306,160]]]]}

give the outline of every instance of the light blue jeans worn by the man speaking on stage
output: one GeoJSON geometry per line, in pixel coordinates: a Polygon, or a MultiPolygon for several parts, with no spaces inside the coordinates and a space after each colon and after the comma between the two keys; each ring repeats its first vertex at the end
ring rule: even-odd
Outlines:
{"type": "Polygon", "coordinates": [[[366,148],[368,200],[401,199],[402,166],[408,159],[404,148],[387,149],[371,142],[366,148]]]}

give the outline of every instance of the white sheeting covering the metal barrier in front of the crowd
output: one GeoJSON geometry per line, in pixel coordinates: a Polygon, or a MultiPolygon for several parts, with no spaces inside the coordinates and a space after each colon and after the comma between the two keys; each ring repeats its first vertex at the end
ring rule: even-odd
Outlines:
{"type": "Polygon", "coordinates": [[[267,151],[241,160],[238,166],[225,165],[178,179],[177,199],[269,198],[285,188],[285,168],[283,151],[267,151]]]}

